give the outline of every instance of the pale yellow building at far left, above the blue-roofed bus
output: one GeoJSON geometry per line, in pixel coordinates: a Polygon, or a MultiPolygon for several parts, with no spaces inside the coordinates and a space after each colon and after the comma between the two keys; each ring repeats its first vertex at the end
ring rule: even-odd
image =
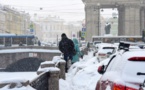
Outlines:
{"type": "MultiPolygon", "coordinates": [[[[10,6],[3,6],[5,12],[5,31],[3,33],[12,33],[17,35],[28,34],[30,16],[25,12],[19,12],[10,6]]],[[[1,14],[2,15],[2,14],[1,14]]]]}

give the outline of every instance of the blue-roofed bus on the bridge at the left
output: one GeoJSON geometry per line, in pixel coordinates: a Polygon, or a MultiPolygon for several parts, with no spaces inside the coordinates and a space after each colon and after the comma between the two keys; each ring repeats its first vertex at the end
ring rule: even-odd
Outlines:
{"type": "Polygon", "coordinates": [[[28,46],[35,45],[37,42],[38,38],[34,35],[0,34],[1,47],[19,46],[20,43],[22,43],[23,46],[28,46]]]}

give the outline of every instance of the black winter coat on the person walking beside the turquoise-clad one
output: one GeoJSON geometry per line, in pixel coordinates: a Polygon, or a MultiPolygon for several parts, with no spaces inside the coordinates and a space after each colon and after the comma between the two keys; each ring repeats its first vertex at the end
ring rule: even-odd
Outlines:
{"type": "Polygon", "coordinates": [[[72,55],[72,50],[74,49],[74,43],[67,37],[62,38],[59,42],[59,50],[65,55],[72,55]]]}

